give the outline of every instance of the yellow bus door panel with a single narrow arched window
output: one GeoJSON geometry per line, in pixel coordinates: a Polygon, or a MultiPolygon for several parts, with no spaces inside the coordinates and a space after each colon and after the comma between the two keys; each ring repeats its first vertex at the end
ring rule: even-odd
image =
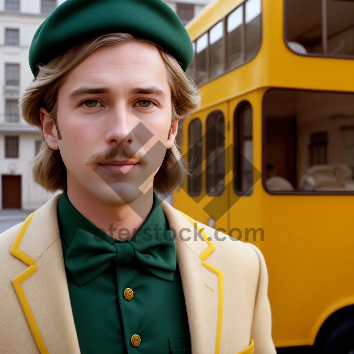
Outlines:
{"type": "Polygon", "coordinates": [[[229,101],[232,153],[228,156],[228,165],[232,166],[233,178],[229,188],[227,229],[229,235],[242,241],[254,239],[249,233],[258,229],[255,225],[257,203],[252,195],[258,185],[261,186],[261,102],[261,93],[257,91],[229,101]]]}

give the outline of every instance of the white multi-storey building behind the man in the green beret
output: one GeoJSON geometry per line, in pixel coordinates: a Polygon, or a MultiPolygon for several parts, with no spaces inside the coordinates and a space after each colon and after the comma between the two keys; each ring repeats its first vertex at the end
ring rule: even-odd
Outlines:
{"type": "MultiPolygon", "coordinates": [[[[165,2],[186,24],[210,1],[165,2]]],[[[41,134],[22,119],[18,98],[33,80],[28,64],[32,38],[62,2],[0,0],[0,209],[35,210],[52,196],[33,182],[30,161],[40,146],[41,134]]]]}

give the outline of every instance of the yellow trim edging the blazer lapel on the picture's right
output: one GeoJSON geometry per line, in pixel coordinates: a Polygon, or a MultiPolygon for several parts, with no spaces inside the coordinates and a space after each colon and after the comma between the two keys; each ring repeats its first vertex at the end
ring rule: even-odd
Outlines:
{"type": "MultiPolygon", "coordinates": [[[[190,218],[188,215],[182,213],[182,215],[187,218],[187,220],[194,226],[198,231],[198,224],[195,220],[190,218]]],[[[201,228],[200,228],[201,229],[201,228]]],[[[216,327],[216,343],[215,343],[215,354],[219,354],[220,352],[220,343],[221,343],[221,330],[222,330],[222,310],[223,310],[223,273],[220,269],[214,267],[210,263],[205,262],[205,260],[211,255],[212,252],[215,251],[215,246],[208,240],[207,235],[204,230],[199,229],[199,234],[206,241],[208,247],[200,253],[199,258],[201,259],[201,265],[209,269],[212,273],[214,273],[218,277],[218,316],[217,316],[217,327],[216,327]]],[[[253,352],[252,352],[253,353],[253,352]]],[[[249,354],[246,352],[245,354],[249,354]]]]}

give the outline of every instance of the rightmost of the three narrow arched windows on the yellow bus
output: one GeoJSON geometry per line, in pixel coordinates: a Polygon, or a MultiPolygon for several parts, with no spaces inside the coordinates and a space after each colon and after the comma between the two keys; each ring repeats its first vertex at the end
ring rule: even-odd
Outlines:
{"type": "Polygon", "coordinates": [[[252,106],[241,102],[234,114],[234,190],[251,195],[253,186],[252,106]]]}

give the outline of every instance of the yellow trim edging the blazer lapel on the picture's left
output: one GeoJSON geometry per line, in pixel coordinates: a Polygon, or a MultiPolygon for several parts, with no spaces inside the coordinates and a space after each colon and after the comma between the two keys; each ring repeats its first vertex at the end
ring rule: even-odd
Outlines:
{"type": "Polygon", "coordinates": [[[16,291],[17,297],[19,299],[19,302],[21,304],[22,310],[24,312],[24,315],[26,316],[28,325],[31,329],[32,335],[34,337],[34,340],[37,343],[37,347],[40,351],[41,354],[49,354],[48,350],[44,344],[43,338],[41,336],[41,333],[39,331],[39,328],[36,324],[36,320],[34,319],[31,307],[29,306],[29,303],[26,298],[26,294],[23,291],[22,288],[22,283],[28,279],[31,275],[33,275],[37,270],[37,266],[35,265],[35,259],[32,257],[26,255],[24,252],[19,250],[19,246],[21,244],[21,241],[23,239],[23,235],[25,234],[28,225],[30,221],[32,220],[35,212],[33,212],[23,223],[21,229],[19,230],[18,234],[16,235],[15,241],[13,241],[13,244],[10,249],[10,253],[18,258],[20,261],[23,263],[29,265],[27,269],[25,269],[21,274],[17,275],[16,278],[12,279],[12,284],[13,287],[16,291]]]}

